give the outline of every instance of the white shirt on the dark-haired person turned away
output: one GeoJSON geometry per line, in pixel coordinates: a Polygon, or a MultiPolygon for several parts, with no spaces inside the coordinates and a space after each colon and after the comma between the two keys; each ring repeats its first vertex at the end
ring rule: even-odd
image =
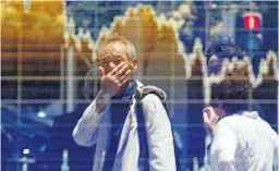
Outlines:
{"type": "Polygon", "coordinates": [[[211,171],[278,171],[277,133],[256,111],[226,117],[210,149],[211,171]]]}

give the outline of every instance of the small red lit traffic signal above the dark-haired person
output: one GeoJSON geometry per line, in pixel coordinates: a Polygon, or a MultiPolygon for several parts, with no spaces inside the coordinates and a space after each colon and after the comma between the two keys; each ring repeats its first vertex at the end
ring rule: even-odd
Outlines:
{"type": "Polygon", "coordinates": [[[257,30],[260,28],[263,16],[259,12],[245,12],[242,16],[246,30],[257,30]]]}

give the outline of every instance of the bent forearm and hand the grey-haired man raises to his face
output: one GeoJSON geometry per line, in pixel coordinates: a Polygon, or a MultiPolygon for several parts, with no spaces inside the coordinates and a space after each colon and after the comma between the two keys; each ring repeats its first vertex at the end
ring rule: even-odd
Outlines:
{"type": "Polygon", "coordinates": [[[102,66],[100,70],[100,89],[96,99],[84,111],[73,131],[73,139],[77,145],[92,146],[96,143],[98,126],[104,118],[104,110],[110,103],[123,85],[131,80],[131,70],[125,63],[120,63],[113,70],[106,73],[102,66]],[[120,77],[119,75],[123,75],[120,77]]]}

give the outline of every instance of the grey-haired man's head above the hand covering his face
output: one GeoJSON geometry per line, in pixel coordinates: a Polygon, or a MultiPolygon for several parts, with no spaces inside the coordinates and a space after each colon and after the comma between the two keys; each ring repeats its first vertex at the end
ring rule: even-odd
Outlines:
{"type": "Polygon", "coordinates": [[[118,41],[112,41],[104,47],[99,56],[99,61],[100,66],[104,68],[106,74],[122,62],[125,62],[131,68],[136,64],[135,59],[130,60],[128,57],[126,46],[118,41]]]}

